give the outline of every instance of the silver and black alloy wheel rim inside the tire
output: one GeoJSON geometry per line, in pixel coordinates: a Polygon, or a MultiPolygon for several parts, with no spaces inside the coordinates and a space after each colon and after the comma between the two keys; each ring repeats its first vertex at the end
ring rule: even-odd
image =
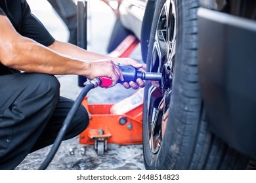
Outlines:
{"type": "Polygon", "coordinates": [[[148,90],[148,140],[153,154],[160,150],[169,116],[175,44],[175,4],[167,0],[158,18],[150,65],[150,72],[162,73],[160,88],[150,86],[148,90]]]}

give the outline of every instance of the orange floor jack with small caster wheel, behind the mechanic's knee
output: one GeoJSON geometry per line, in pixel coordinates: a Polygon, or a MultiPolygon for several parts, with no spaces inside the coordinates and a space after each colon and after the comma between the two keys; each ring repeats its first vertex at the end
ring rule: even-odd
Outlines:
{"type": "MultiPolygon", "coordinates": [[[[127,36],[110,56],[128,57],[139,40],[127,36]]],[[[89,112],[89,125],[79,135],[80,144],[94,144],[99,155],[107,150],[108,143],[121,145],[142,143],[143,89],[115,104],[89,104],[87,97],[82,105],[89,112]]]]}

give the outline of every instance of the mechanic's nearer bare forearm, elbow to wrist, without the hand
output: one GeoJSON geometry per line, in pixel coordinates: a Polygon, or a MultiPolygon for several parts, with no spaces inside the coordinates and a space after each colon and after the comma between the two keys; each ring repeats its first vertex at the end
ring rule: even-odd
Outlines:
{"type": "Polygon", "coordinates": [[[9,58],[2,63],[25,72],[51,75],[90,74],[89,62],[69,58],[25,37],[15,42],[9,58]]]}

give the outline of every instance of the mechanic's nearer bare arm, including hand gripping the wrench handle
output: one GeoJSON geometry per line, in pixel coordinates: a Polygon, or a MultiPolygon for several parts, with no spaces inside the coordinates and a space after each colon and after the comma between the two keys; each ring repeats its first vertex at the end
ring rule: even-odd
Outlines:
{"type": "Polygon", "coordinates": [[[121,76],[117,65],[107,59],[98,62],[90,62],[89,59],[68,57],[22,37],[7,16],[0,15],[0,62],[7,67],[28,73],[83,75],[89,79],[107,76],[112,78],[114,86],[121,76]]]}

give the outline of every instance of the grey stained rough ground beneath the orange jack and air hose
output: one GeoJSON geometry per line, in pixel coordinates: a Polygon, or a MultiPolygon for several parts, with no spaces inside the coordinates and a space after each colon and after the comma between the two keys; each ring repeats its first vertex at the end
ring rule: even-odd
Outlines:
{"type": "MultiPolygon", "coordinates": [[[[94,146],[81,145],[78,137],[62,142],[47,169],[58,170],[140,170],[144,169],[142,145],[119,146],[108,144],[103,156],[98,156],[94,146]]],[[[50,147],[28,155],[16,169],[38,169],[50,147]]]]}

